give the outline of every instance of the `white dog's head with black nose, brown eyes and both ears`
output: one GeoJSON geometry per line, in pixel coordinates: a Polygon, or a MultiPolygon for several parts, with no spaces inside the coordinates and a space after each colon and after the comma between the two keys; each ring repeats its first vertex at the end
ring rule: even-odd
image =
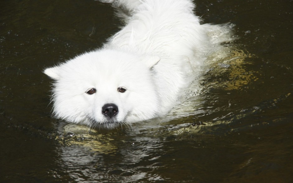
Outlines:
{"type": "Polygon", "coordinates": [[[54,114],[72,123],[114,128],[160,111],[151,67],[160,59],[100,50],[77,56],[44,73],[55,80],[54,114]]]}

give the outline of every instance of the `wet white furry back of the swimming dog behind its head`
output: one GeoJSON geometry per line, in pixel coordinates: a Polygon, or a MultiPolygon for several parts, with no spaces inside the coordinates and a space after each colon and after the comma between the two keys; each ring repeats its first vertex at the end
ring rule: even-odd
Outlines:
{"type": "Polygon", "coordinates": [[[161,58],[154,71],[167,112],[190,82],[187,75],[195,52],[207,43],[206,31],[193,12],[195,5],[189,0],[121,0],[116,6],[128,8],[130,18],[106,47],[161,58]]]}

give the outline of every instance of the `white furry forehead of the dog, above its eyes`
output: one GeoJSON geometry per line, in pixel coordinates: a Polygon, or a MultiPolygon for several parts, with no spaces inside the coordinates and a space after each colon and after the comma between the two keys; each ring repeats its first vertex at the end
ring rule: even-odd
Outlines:
{"type": "Polygon", "coordinates": [[[149,69],[135,55],[124,57],[110,53],[88,53],[67,62],[62,67],[62,79],[70,88],[82,86],[82,91],[96,88],[103,91],[117,91],[118,87],[128,87],[145,82],[149,69]]]}

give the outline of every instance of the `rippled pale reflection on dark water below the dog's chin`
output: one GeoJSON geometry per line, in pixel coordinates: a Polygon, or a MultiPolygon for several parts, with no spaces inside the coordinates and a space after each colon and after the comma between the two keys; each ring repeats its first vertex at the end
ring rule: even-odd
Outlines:
{"type": "MultiPolygon", "coordinates": [[[[76,143],[64,146],[58,150],[60,167],[74,181],[117,181],[129,182],[139,180],[164,180],[161,176],[152,173],[161,163],[158,160],[163,154],[162,141],[158,138],[135,137],[123,141],[101,140],[103,148],[111,146],[105,154],[104,149],[95,148],[97,141],[92,143],[76,143]],[[113,149],[113,147],[116,147],[113,149]],[[161,153],[157,153],[161,152],[161,153]]],[[[56,175],[60,176],[60,175],[56,175]]],[[[62,175],[61,175],[62,176],[62,175]]]]}

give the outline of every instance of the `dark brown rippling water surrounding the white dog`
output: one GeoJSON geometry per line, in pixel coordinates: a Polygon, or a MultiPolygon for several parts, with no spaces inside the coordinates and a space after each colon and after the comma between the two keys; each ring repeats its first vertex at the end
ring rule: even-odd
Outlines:
{"type": "Polygon", "coordinates": [[[1,1],[0,182],[292,182],[293,2],[195,2],[204,23],[236,25],[242,55],[206,73],[196,112],[71,137],[50,117],[41,71],[121,23],[93,0],[1,1]]]}

